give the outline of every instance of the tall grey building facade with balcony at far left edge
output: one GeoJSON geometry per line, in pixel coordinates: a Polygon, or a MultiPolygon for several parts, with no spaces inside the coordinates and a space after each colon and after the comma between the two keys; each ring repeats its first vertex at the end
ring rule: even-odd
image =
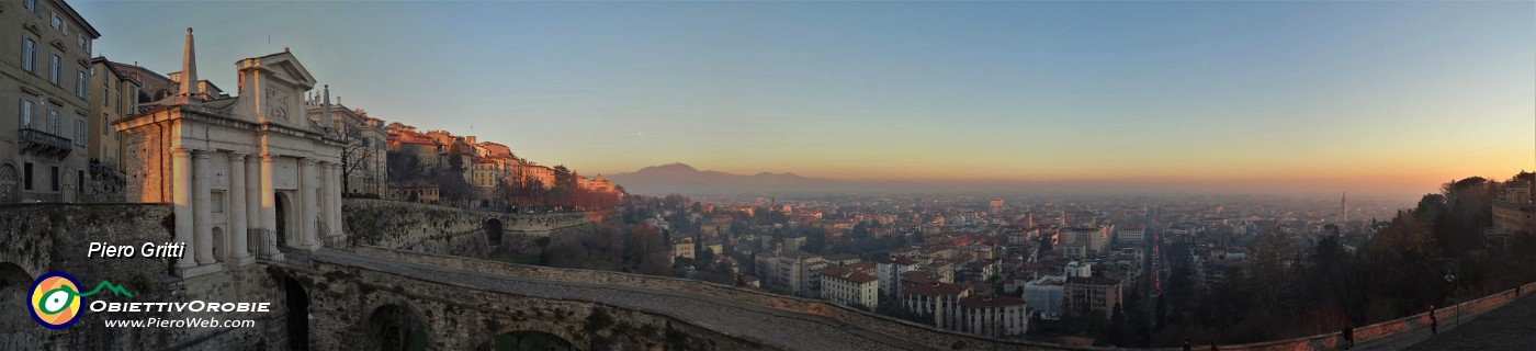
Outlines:
{"type": "Polygon", "coordinates": [[[58,0],[8,2],[0,35],[0,202],[89,195],[91,44],[101,34],[58,0]]]}

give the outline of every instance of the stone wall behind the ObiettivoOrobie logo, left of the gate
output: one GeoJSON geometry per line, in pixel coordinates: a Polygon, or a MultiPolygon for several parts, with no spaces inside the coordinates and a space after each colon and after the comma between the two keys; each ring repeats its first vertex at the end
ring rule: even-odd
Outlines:
{"type": "MultiPolygon", "coordinates": [[[[167,242],[170,205],[163,204],[18,204],[0,205],[0,271],[15,267],[20,276],[0,276],[0,349],[178,349],[226,348],[266,349],[286,334],[269,320],[281,317],[284,307],[270,291],[273,280],[261,265],[226,267],[224,273],[183,279],[170,274],[172,259],[164,258],[86,258],[91,242],[141,247],[167,242]],[[26,313],[26,288],[48,271],[72,274],[81,290],[108,280],[126,288],[132,297],[100,293],[83,297],[106,302],[273,302],[273,313],[92,313],[81,310],[78,320],[51,331],[26,313]],[[20,280],[20,282],[12,282],[20,280]],[[12,296],[17,294],[17,296],[12,296]],[[250,319],[257,328],[106,328],[108,319],[250,319]]],[[[190,251],[190,250],[189,250],[190,251]]]]}

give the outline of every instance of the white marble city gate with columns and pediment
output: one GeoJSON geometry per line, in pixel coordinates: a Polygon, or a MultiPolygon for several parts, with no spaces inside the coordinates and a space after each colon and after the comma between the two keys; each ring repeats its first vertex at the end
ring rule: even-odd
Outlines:
{"type": "Polygon", "coordinates": [[[181,276],[246,265],[276,247],[316,250],[341,235],[341,146],[304,113],[315,78],[284,51],[235,63],[238,97],[201,90],[187,28],[180,89],[124,133],[127,201],[172,204],[181,276]]]}

